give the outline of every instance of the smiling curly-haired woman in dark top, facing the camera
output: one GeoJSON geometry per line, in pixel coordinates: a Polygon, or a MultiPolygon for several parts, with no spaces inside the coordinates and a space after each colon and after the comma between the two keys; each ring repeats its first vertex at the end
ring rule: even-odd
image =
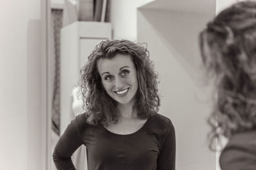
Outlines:
{"type": "Polygon", "coordinates": [[[81,69],[84,110],[58,141],[57,169],[75,169],[85,145],[91,169],[175,169],[175,130],[159,115],[157,74],[148,50],[127,40],[102,41],[81,69]]]}

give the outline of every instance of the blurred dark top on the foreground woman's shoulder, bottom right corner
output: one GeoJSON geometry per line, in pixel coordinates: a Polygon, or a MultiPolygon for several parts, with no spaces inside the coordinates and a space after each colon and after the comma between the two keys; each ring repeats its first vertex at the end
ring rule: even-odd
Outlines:
{"type": "Polygon", "coordinates": [[[221,170],[256,169],[256,131],[232,136],[220,155],[221,170]]]}

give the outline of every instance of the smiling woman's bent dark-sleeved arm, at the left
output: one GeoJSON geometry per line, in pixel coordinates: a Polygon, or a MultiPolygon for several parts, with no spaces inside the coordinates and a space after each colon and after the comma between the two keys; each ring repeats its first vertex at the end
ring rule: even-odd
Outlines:
{"type": "Polygon", "coordinates": [[[72,120],[68,125],[54,149],[52,157],[57,169],[76,169],[71,160],[71,156],[77,148],[83,144],[77,125],[77,118],[78,117],[72,120]]]}

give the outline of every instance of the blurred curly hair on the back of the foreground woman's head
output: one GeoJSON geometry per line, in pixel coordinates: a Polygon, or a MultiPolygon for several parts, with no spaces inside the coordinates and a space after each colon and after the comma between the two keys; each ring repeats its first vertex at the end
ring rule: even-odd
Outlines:
{"type": "Polygon", "coordinates": [[[256,2],[233,4],[200,32],[200,52],[216,82],[209,147],[220,136],[256,129],[256,2]]]}

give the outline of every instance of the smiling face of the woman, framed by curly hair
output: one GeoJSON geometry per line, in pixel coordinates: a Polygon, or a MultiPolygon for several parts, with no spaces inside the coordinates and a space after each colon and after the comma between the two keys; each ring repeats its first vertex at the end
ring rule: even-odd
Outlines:
{"type": "Polygon", "coordinates": [[[130,55],[116,54],[112,59],[99,59],[97,69],[110,97],[120,104],[134,101],[138,79],[130,55]]]}

